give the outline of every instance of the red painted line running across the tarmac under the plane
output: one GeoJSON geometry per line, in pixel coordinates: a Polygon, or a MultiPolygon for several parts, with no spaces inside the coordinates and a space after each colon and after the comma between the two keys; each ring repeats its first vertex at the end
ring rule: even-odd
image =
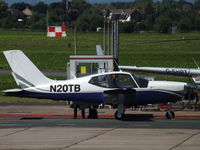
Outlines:
{"type": "MultiPolygon", "coordinates": [[[[73,117],[73,114],[0,114],[0,117],[73,117]]],[[[77,115],[77,117],[82,117],[77,115]]],[[[88,115],[85,116],[86,118],[88,115]]],[[[115,118],[114,115],[98,115],[99,118],[115,118]]],[[[165,115],[153,115],[154,118],[165,118],[165,115]]],[[[176,118],[200,118],[200,115],[176,115],[176,118]]]]}

